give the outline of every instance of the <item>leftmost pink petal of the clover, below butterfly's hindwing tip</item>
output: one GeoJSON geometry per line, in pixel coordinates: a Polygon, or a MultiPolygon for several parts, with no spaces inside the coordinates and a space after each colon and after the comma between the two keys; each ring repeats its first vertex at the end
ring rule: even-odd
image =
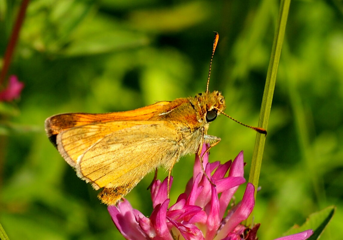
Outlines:
{"type": "Polygon", "coordinates": [[[126,239],[149,239],[139,226],[132,212],[133,208],[126,199],[117,206],[108,206],[107,209],[113,223],[126,239]]]}

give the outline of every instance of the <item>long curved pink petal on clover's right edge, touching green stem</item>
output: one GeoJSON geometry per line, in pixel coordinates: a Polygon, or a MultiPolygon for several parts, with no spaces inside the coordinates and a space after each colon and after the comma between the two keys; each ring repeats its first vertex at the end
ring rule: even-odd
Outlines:
{"type": "Polygon", "coordinates": [[[242,201],[239,203],[235,212],[230,216],[227,223],[219,231],[215,239],[222,239],[226,237],[229,232],[231,232],[239,223],[241,223],[241,221],[248,218],[255,205],[254,191],[254,186],[248,182],[242,201]]]}

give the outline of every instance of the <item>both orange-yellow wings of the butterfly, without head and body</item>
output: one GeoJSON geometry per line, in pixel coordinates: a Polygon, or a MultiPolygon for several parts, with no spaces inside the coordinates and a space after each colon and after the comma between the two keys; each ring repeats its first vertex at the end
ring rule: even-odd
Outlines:
{"type": "Polygon", "coordinates": [[[191,133],[189,126],[178,115],[166,118],[182,104],[188,100],[125,112],[65,113],[48,118],[45,129],[77,175],[95,189],[104,188],[99,198],[113,205],[148,172],[160,165],[171,169],[186,154],[181,140],[191,133]]]}

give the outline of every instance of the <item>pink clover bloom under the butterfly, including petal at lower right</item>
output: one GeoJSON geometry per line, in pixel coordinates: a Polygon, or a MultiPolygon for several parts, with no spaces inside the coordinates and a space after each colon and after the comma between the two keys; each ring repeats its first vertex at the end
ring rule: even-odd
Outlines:
{"type": "MultiPolygon", "coordinates": [[[[203,146],[202,154],[206,146],[203,146]]],[[[193,178],[189,180],[184,193],[169,208],[167,199],[167,178],[161,183],[156,180],[151,188],[154,210],[150,217],[144,216],[123,199],[117,206],[108,206],[114,224],[128,240],[255,240],[260,224],[252,228],[241,222],[248,218],[255,205],[254,186],[247,184],[243,199],[227,211],[227,206],[243,177],[243,152],[234,161],[220,164],[203,158],[205,172],[211,176],[215,187],[204,176],[199,157],[196,156],[193,178]],[[211,174],[213,172],[213,174],[211,174]],[[228,172],[228,176],[226,173],[228,172]],[[220,197],[218,194],[221,193],[220,197]]],[[[172,182],[172,178],[171,181],[172,182]]],[[[170,183],[171,185],[171,183],[170,183]]],[[[312,235],[307,230],[277,240],[305,240],[312,235]]]]}

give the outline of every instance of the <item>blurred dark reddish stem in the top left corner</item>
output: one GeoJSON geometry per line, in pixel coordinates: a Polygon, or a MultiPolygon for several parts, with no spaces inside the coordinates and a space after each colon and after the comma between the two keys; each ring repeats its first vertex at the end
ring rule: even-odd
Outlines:
{"type": "Polygon", "coordinates": [[[5,52],[5,56],[4,56],[3,68],[2,68],[2,71],[0,74],[0,88],[4,82],[7,71],[10,67],[10,64],[11,64],[13,51],[14,51],[15,45],[16,45],[18,37],[19,37],[20,28],[24,22],[28,2],[29,2],[29,0],[23,0],[21,5],[20,5],[19,13],[18,13],[17,19],[15,21],[15,25],[13,27],[11,38],[10,38],[10,41],[8,42],[6,52],[5,52]]]}

